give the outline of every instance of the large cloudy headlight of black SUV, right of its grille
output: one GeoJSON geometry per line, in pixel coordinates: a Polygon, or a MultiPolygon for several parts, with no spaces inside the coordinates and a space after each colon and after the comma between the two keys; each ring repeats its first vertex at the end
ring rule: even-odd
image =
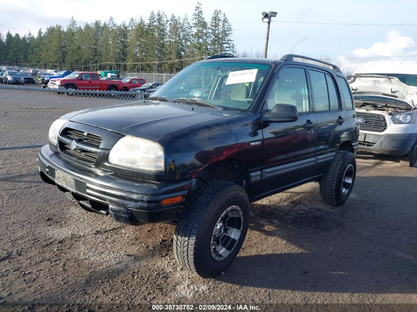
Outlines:
{"type": "Polygon", "coordinates": [[[126,136],[114,144],[109,163],[123,167],[160,172],[165,169],[164,150],[156,142],[126,136]]]}

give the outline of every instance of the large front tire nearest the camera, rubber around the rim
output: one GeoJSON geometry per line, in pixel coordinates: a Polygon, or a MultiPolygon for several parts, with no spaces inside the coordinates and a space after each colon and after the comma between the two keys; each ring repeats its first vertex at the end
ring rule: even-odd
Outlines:
{"type": "Polygon", "coordinates": [[[190,195],[177,221],[175,258],[183,268],[201,277],[212,277],[227,268],[243,244],[249,225],[249,199],[237,184],[212,180],[190,195]],[[217,261],[212,256],[213,230],[221,215],[232,206],[239,207],[242,212],[240,236],[228,256],[217,261]]]}

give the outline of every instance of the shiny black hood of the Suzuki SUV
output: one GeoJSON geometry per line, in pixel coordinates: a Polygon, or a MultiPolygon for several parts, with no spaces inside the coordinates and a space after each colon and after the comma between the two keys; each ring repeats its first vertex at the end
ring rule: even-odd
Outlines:
{"type": "Polygon", "coordinates": [[[89,109],[70,120],[123,135],[159,141],[181,129],[237,114],[238,111],[145,100],[89,109]]]}

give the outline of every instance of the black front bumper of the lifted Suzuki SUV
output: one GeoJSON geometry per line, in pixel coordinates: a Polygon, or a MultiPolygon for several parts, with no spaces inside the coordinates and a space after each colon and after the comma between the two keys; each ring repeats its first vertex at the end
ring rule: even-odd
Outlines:
{"type": "Polygon", "coordinates": [[[183,208],[191,186],[191,180],[156,183],[101,170],[87,171],[63,161],[49,145],[39,150],[38,171],[43,181],[56,184],[86,210],[131,225],[173,221],[183,208]],[[161,205],[162,199],[180,195],[182,202],[161,205]]]}

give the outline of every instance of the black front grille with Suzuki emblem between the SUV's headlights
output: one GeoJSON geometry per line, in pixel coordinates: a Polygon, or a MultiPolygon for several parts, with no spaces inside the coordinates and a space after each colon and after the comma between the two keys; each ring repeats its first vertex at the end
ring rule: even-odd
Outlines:
{"type": "Polygon", "coordinates": [[[66,128],[62,131],[61,138],[59,149],[63,154],[88,164],[96,162],[97,150],[101,144],[100,136],[66,128]],[[71,141],[73,140],[78,144],[76,149],[71,148],[71,141]]]}

